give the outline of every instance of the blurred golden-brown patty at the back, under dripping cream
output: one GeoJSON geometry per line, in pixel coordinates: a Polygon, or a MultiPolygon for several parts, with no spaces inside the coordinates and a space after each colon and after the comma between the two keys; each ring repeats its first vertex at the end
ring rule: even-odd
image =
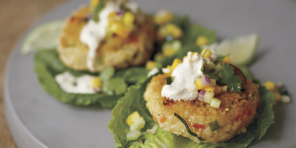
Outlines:
{"type": "MultiPolygon", "coordinates": [[[[86,57],[88,46],[79,41],[80,31],[87,23],[86,16],[89,7],[81,7],[67,19],[60,34],[58,52],[60,60],[75,70],[88,70],[86,57]]],[[[95,71],[101,71],[107,66],[126,68],[144,64],[149,60],[154,50],[154,24],[152,18],[138,13],[136,15],[137,29],[128,39],[110,36],[100,42],[98,57],[94,64],[95,71]]]]}

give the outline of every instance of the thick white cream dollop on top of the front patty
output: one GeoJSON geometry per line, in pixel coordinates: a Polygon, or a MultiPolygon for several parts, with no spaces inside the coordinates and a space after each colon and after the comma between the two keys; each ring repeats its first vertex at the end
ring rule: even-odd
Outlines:
{"type": "Polygon", "coordinates": [[[198,91],[195,82],[203,75],[201,67],[202,56],[188,52],[187,57],[172,72],[173,83],[162,87],[161,96],[175,101],[192,101],[197,98],[198,91]]]}

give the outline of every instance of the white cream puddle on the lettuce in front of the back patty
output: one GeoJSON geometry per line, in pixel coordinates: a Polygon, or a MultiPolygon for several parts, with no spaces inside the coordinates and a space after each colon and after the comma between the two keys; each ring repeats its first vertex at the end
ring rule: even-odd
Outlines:
{"type": "Polygon", "coordinates": [[[92,87],[91,80],[95,78],[90,75],[80,77],[73,76],[69,72],[58,74],[55,79],[59,87],[68,93],[84,93],[92,94],[99,92],[98,89],[92,87]]]}

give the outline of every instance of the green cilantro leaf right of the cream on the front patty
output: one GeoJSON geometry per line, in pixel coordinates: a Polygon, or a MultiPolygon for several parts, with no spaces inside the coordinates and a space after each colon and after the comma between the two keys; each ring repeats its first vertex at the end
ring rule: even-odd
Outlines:
{"type": "Polygon", "coordinates": [[[232,92],[239,92],[241,89],[241,79],[237,75],[233,75],[235,72],[228,63],[222,65],[222,82],[227,84],[227,88],[232,92]]]}

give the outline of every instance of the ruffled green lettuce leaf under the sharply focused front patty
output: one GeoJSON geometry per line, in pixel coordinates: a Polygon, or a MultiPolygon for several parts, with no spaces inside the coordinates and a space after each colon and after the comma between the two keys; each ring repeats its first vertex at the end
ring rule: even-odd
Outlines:
{"type": "Polygon", "coordinates": [[[247,127],[246,133],[237,135],[227,142],[197,144],[189,138],[168,133],[160,127],[158,127],[156,134],[148,134],[144,131],[157,125],[146,108],[143,98],[146,85],[150,80],[151,78],[146,79],[138,85],[130,86],[125,93],[125,97],[120,98],[118,104],[112,110],[113,119],[110,120],[108,127],[114,134],[117,148],[246,148],[254,139],[260,139],[265,134],[267,128],[274,123],[274,96],[265,87],[260,86],[260,106],[257,110],[259,114],[258,118],[247,127]],[[146,125],[142,129],[143,136],[141,139],[143,142],[148,141],[139,146],[132,146],[130,142],[127,142],[125,137],[129,132],[129,126],[125,121],[128,115],[134,111],[138,111],[140,116],[146,121],[146,125]]]}

